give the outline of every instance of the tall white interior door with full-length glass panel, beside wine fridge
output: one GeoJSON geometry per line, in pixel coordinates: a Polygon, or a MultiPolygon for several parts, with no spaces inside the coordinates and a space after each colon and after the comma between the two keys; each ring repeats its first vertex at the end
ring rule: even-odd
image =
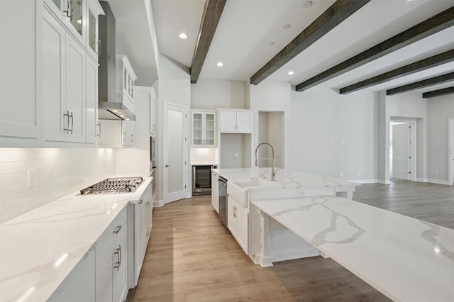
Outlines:
{"type": "Polygon", "coordinates": [[[186,195],[186,118],[187,109],[164,105],[163,189],[164,202],[177,201],[186,195]]]}

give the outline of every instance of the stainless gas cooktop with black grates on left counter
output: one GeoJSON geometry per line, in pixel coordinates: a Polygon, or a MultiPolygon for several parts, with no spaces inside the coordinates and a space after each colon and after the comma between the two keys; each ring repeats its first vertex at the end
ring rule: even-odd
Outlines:
{"type": "Polygon", "coordinates": [[[135,191],[142,184],[142,177],[111,177],[80,190],[80,194],[111,194],[135,191]]]}

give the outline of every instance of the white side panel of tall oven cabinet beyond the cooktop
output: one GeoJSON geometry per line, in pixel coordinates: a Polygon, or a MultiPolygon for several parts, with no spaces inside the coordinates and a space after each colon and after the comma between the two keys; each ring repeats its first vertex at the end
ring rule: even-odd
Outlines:
{"type": "Polygon", "coordinates": [[[118,173],[150,173],[150,87],[134,88],[134,146],[116,152],[118,173]]]}

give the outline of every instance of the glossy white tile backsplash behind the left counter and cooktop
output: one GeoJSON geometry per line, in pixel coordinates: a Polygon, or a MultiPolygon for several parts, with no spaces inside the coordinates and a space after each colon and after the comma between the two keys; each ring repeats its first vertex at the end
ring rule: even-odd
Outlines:
{"type": "Polygon", "coordinates": [[[0,223],[114,173],[114,149],[0,148],[0,223]]]}

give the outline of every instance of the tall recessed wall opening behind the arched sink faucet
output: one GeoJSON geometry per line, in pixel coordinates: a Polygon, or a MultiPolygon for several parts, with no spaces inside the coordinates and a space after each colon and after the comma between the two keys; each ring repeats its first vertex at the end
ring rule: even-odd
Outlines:
{"type": "MultiPolygon", "coordinates": [[[[284,168],[284,112],[259,111],[258,142],[269,142],[275,150],[275,167],[284,168]]],[[[270,158],[271,149],[261,148],[260,158],[270,158]]],[[[259,167],[272,167],[270,160],[260,161],[259,167]]]]}

